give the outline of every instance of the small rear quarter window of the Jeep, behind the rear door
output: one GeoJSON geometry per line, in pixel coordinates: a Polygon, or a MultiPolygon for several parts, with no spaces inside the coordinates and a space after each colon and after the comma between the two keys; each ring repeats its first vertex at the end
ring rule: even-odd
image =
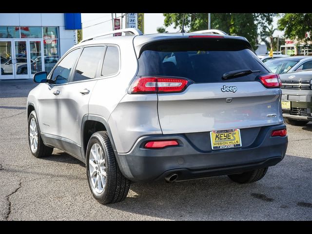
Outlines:
{"type": "Polygon", "coordinates": [[[116,46],[108,46],[103,62],[101,76],[114,75],[119,70],[119,51],[116,46]]]}

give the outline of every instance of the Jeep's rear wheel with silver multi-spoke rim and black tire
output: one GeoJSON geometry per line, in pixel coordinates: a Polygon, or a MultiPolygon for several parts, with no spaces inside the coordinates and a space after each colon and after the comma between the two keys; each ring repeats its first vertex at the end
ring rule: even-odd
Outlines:
{"type": "Polygon", "coordinates": [[[126,198],[130,180],[120,172],[106,131],[91,136],[86,152],[86,171],[91,193],[99,203],[116,203],[126,198]]]}

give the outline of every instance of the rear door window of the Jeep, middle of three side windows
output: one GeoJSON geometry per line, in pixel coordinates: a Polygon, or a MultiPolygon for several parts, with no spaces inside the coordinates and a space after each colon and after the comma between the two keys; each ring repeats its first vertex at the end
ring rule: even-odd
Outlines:
{"type": "Polygon", "coordinates": [[[73,81],[95,78],[104,52],[104,46],[85,47],[78,60],[73,81]]]}

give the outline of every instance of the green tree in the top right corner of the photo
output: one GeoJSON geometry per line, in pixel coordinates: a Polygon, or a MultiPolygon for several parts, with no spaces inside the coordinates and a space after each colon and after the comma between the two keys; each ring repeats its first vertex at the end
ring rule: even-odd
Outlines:
{"type": "Polygon", "coordinates": [[[312,13],[286,13],[277,21],[278,29],[284,31],[285,38],[298,39],[303,42],[312,40],[306,38],[306,32],[312,31],[312,13]]]}

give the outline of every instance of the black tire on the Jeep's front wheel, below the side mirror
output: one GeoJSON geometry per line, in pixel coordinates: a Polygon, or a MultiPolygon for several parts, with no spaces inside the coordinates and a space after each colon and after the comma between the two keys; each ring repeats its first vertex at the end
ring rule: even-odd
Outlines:
{"type": "Polygon", "coordinates": [[[40,130],[39,130],[39,124],[38,124],[38,120],[37,120],[37,115],[35,111],[32,111],[28,117],[28,143],[29,143],[29,148],[31,153],[33,154],[33,156],[35,157],[44,157],[44,156],[51,156],[52,152],[53,152],[53,148],[48,147],[46,145],[43,144],[41,135],[40,135],[40,130]],[[37,144],[37,149],[36,150],[32,150],[31,148],[31,139],[30,139],[30,123],[32,119],[35,119],[36,124],[37,124],[37,128],[36,128],[36,132],[37,132],[37,136],[38,136],[38,144],[37,144]]]}

